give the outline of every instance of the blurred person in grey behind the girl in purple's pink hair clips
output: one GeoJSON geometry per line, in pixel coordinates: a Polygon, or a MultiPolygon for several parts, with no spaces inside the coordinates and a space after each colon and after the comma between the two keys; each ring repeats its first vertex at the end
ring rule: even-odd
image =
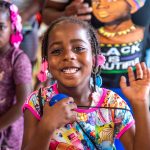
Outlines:
{"type": "Polygon", "coordinates": [[[10,0],[15,4],[22,18],[23,41],[20,48],[29,57],[32,67],[37,62],[39,23],[36,14],[41,11],[44,0],[10,0]]]}

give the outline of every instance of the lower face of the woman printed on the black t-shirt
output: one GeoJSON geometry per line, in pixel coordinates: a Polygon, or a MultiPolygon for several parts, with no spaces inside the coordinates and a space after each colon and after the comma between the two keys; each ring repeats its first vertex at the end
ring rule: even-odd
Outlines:
{"type": "Polygon", "coordinates": [[[110,23],[126,17],[130,13],[126,0],[93,0],[93,13],[103,23],[110,23]]]}

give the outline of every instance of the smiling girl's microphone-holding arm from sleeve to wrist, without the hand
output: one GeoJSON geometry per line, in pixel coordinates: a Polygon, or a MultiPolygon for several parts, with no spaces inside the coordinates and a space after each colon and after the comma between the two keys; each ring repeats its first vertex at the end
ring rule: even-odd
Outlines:
{"type": "MultiPolygon", "coordinates": [[[[48,150],[50,137],[55,128],[46,128],[46,120],[38,121],[29,110],[24,113],[24,136],[22,150],[48,150]]],[[[51,125],[52,126],[52,125],[51,125]]]]}

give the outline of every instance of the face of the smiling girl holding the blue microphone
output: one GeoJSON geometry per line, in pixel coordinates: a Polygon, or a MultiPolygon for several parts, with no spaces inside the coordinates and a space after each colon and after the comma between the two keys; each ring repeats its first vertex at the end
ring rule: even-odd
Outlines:
{"type": "Polygon", "coordinates": [[[64,21],[52,29],[48,42],[49,70],[58,84],[65,87],[88,86],[92,48],[86,30],[64,21]]]}

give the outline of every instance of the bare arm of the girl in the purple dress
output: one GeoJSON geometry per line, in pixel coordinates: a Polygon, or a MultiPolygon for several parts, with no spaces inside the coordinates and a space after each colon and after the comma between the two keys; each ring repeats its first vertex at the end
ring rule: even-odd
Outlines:
{"type": "Polygon", "coordinates": [[[17,102],[0,116],[0,130],[7,128],[22,115],[22,105],[29,93],[31,93],[31,83],[16,85],[17,102]]]}

